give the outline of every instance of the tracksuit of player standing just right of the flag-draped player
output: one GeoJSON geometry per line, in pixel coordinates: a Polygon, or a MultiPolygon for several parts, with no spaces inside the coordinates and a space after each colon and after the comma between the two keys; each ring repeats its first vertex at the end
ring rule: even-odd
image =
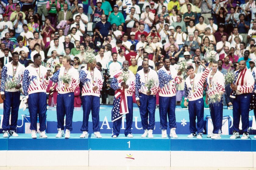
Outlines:
{"type": "Polygon", "coordinates": [[[155,95],[158,91],[158,84],[158,75],[155,70],[149,68],[148,73],[144,73],[143,69],[137,72],[135,97],[136,100],[140,100],[140,117],[144,130],[153,130],[155,127],[155,95]],[[150,89],[151,94],[147,95],[148,87],[145,87],[145,84],[149,80],[154,80],[154,86],[150,89]]]}

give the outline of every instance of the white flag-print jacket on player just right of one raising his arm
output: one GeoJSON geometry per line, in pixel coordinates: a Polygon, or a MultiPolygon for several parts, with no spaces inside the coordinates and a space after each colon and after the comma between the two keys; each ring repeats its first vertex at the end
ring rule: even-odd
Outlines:
{"type": "Polygon", "coordinates": [[[210,71],[210,73],[206,78],[208,96],[219,94],[219,92],[222,92],[224,94],[225,93],[224,75],[218,70],[213,77],[211,76],[211,73],[212,73],[212,70],[210,71]]]}

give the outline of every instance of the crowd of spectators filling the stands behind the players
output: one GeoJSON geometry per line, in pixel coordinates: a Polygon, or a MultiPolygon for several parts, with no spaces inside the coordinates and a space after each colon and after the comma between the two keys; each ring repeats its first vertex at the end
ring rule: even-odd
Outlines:
{"type": "MultiPolygon", "coordinates": [[[[110,83],[125,60],[134,74],[144,60],[158,71],[165,56],[175,69],[187,60],[195,73],[201,73],[211,48],[224,75],[238,70],[240,60],[256,70],[254,0],[1,0],[0,14],[1,68],[13,52],[20,54],[24,66],[33,64],[39,53],[51,73],[62,66],[63,56],[70,56],[79,72],[87,67],[84,50],[95,49],[96,67],[104,78],[102,104],[113,102],[110,83]]],[[[48,85],[49,106],[56,105],[56,87],[53,82],[48,85]]],[[[75,107],[81,106],[80,89],[75,107]]],[[[177,104],[183,98],[184,80],[177,85],[177,104]]],[[[229,95],[225,103],[232,105],[229,95]]]]}

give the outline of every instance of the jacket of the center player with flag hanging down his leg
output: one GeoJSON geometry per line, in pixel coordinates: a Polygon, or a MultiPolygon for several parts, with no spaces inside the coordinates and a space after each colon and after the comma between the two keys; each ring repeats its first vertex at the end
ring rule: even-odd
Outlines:
{"type": "MultiPolygon", "coordinates": [[[[113,90],[121,89],[123,90],[123,87],[121,87],[122,79],[118,76],[118,74],[122,72],[122,70],[117,71],[112,79],[111,82],[111,88],[113,90]]],[[[126,84],[129,86],[128,89],[124,89],[124,93],[126,96],[133,96],[133,93],[135,92],[135,76],[131,70],[129,70],[130,77],[126,81],[126,84]]]]}

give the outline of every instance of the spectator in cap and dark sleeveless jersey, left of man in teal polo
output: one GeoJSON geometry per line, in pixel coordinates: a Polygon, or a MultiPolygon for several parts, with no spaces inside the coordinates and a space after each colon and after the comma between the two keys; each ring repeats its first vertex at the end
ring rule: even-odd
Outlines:
{"type": "MultiPolygon", "coordinates": [[[[92,8],[92,15],[91,15],[91,22],[93,22],[93,24],[97,26],[97,23],[102,21],[102,15],[105,15],[104,14],[104,10],[101,9],[101,6],[102,6],[102,1],[101,0],[97,0],[96,1],[96,7],[93,5],[93,1],[91,1],[91,8],[92,8]]],[[[104,23],[106,22],[106,15],[104,17],[104,23]]],[[[94,27],[93,25],[93,27],[94,27]]],[[[99,25],[98,25],[99,26],[99,25]]],[[[106,26],[109,26],[109,25],[106,25],[106,26]]],[[[97,27],[99,29],[99,27],[97,27]]],[[[108,28],[108,27],[107,27],[108,28]]]]}

